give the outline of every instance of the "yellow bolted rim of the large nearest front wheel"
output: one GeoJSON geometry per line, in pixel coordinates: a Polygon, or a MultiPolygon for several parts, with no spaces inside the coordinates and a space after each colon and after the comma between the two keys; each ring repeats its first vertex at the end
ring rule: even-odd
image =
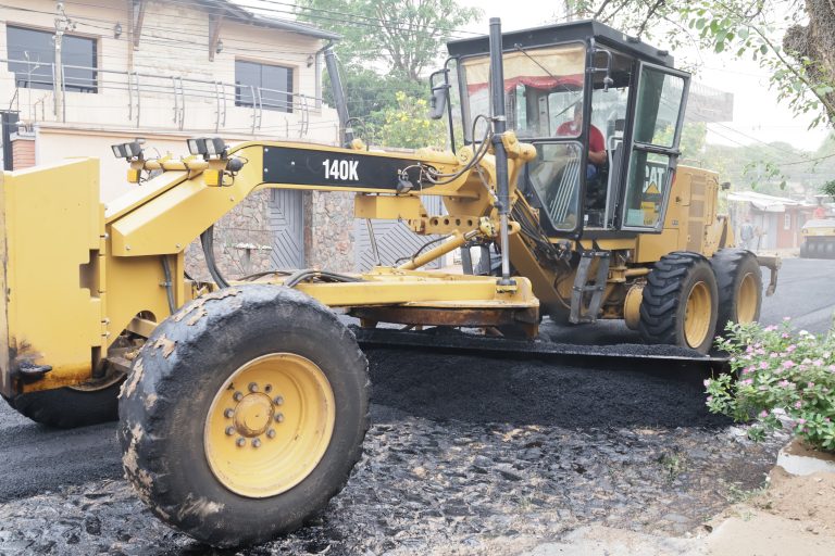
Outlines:
{"type": "Polygon", "coordinates": [[[275,496],[319,465],[335,420],[334,391],[315,363],[292,353],[263,355],[215,394],[203,431],[205,458],[232,492],[275,496]]]}

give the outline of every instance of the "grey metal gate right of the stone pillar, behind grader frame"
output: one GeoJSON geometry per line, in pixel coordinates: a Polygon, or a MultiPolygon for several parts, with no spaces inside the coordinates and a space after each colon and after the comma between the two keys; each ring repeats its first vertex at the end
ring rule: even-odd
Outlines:
{"type": "MultiPolygon", "coordinates": [[[[429,214],[445,214],[444,202],[440,197],[426,195],[421,201],[429,214]]],[[[419,236],[400,220],[372,220],[372,225],[379,252],[379,262],[384,266],[394,265],[400,258],[411,257],[424,243],[438,237],[419,236]]],[[[353,228],[354,268],[361,273],[376,266],[377,263],[374,261],[374,251],[371,247],[365,219],[357,218],[353,228]]],[[[433,261],[425,268],[440,268],[440,261],[433,261]]]]}

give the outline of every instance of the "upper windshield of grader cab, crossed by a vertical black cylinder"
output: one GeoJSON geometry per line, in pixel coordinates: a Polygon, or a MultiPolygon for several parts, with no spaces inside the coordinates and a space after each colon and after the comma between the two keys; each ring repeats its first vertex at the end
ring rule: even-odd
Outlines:
{"type": "MultiPolygon", "coordinates": [[[[585,55],[583,43],[506,52],[508,129],[523,138],[554,137],[560,124],[571,119],[573,108],[583,99],[585,55]]],[[[462,104],[464,137],[472,142],[473,121],[479,114],[490,114],[490,60],[488,55],[475,56],[461,65],[462,91],[466,96],[462,104]]],[[[484,121],[478,123],[477,140],[486,125],[484,121]]]]}

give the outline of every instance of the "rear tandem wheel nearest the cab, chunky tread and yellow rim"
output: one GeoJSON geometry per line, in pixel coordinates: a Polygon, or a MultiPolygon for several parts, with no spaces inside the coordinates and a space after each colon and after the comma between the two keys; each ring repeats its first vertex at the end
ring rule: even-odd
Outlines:
{"type": "Polygon", "coordinates": [[[646,343],[708,353],[716,328],[716,298],[707,258],[685,251],[664,255],[647,277],[638,331],[646,343]]]}

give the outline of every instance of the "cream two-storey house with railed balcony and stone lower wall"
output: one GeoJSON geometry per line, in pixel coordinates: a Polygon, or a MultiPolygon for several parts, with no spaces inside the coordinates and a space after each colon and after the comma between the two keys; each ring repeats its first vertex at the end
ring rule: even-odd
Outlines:
{"type": "MultiPolygon", "coordinates": [[[[338,36],[227,0],[8,0],[0,7],[4,169],[96,156],[101,199],[127,191],[110,146],[144,137],[151,156],[216,135],[334,143],[323,49],[338,36]]],[[[272,267],[346,269],[352,199],[257,192],[215,226],[229,276],[272,267]],[[341,220],[346,222],[342,223],[341,220]],[[316,226],[303,223],[336,223],[316,226]],[[347,249],[347,248],[346,248],[347,249]]],[[[188,261],[202,256],[194,245],[188,261]]],[[[198,273],[201,265],[195,265],[198,273]]]]}

